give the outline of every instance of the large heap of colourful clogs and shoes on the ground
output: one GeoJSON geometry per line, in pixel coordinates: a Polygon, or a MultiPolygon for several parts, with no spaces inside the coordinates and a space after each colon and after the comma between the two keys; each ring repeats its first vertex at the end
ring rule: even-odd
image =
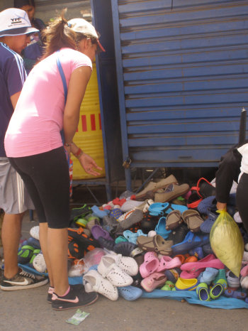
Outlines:
{"type": "MultiPolygon", "coordinates": [[[[236,277],[211,249],[216,211],[215,188],[208,180],[200,178],[190,188],[179,185],[174,175],[102,206],[74,208],[68,229],[69,276],[82,276],[86,292],[110,300],[136,300],[142,291],[156,289],[196,291],[203,301],[220,295],[248,300],[248,252],[236,277]]],[[[235,194],[227,212],[237,215],[235,194]]],[[[240,230],[247,244],[248,235],[240,230]]],[[[41,253],[31,246],[23,243],[18,256],[22,264],[33,259],[37,268],[34,261],[41,253]]]]}

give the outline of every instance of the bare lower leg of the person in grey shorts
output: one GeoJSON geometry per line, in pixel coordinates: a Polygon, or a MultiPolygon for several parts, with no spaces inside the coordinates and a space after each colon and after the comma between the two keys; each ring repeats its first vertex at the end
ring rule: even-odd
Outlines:
{"type": "Polygon", "coordinates": [[[21,223],[24,213],[5,214],[1,239],[4,247],[4,276],[12,278],[18,273],[18,247],[21,239],[21,223]]]}

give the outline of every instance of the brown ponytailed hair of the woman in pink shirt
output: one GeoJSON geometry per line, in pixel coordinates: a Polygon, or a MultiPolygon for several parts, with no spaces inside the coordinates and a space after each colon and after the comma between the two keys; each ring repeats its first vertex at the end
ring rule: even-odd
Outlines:
{"type": "Polygon", "coordinates": [[[60,48],[72,48],[77,49],[77,33],[69,28],[67,20],[64,18],[64,13],[67,9],[63,9],[61,16],[55,18],[45,30],[42,31],[43,37],[45,38],[45,53],[44,58],[55,53],[60,48]]]}

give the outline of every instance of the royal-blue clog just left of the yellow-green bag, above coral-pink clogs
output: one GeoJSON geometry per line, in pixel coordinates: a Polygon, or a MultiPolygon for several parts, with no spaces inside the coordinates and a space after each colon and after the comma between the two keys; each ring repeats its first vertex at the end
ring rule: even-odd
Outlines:
{"type": "Polygon", "coordinates": [[[171,246],[173,254],[184,254],[197,246],[203,246],[209,243],[209,234],[196,234],[189,231],[183,242],[171,246]]]}

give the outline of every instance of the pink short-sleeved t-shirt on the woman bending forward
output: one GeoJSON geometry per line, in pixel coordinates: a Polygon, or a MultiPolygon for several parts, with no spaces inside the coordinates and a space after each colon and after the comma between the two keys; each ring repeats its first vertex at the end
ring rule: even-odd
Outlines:
{"type": "MultiPolygon", "coordinates": [[[[59,57],[67,87],[77,67],[92,69],[91,60],[77,50],[62,48],[59,57]]],[[[35,65],[23,85],[4,141],[9,157],[31,156],[62,146],[64,89],[56,58],[53,53],[35,65]]]]}

